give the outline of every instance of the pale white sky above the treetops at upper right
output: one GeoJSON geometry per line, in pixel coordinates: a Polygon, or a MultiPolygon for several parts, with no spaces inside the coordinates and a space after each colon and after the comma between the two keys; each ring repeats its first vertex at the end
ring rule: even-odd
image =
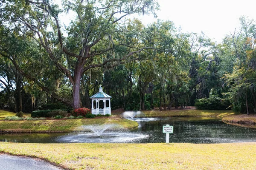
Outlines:
{"type": "MultiPolygon", "coordinates": [[[[226,34],[239,28],[239,17],[256,20],[255,0],[158,0],[161,20],[171,20],[183,32],[201,33],[213,41],[221,42],[226,34]]],[[[151,23],[152,16],[141,16],[144,23],[151,23]]]]}

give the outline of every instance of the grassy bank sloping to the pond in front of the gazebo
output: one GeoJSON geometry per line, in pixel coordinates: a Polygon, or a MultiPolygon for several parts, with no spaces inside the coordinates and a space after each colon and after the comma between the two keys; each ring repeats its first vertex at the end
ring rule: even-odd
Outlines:
{"type": "Polygon", "coordinates": [[[0,121],[2,132],[73,132],[81,131],[81,125],[117,124],[120,128],[134,128],[137,122],[119,118],[118,116],[100,117],[96,119],[51,119],[0,121]]]}

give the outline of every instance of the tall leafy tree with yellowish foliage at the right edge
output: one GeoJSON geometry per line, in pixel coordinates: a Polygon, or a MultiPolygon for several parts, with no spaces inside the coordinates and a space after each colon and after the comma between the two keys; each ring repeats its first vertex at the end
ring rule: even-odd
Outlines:
{"type": "MultiPolygon", "coordinates": [[[[224,49],[229,50],[233,68],[226,69],[225,82],[230,91],[225,95],[233,102],[233,110],[245,111],[247,114],[256,112],[256,24],[254,20],[242,16],[240,18],[241,28],[225,38],[224,49]],[[230,46],[227,44],[232,43],[230,46]]],[[[226,54],[222,55],[223,60],[226,54]]],[[[225,68],[225,67],[224,67],[225,68]]]]}

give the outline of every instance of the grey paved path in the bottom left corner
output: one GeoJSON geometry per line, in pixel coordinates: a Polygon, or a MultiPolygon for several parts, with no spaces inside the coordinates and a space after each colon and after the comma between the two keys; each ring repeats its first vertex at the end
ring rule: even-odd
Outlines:
{"type": "Polygon", "coordinates": [[[0,154],[0,170],[62,170],[46,161],[0,154]]]}

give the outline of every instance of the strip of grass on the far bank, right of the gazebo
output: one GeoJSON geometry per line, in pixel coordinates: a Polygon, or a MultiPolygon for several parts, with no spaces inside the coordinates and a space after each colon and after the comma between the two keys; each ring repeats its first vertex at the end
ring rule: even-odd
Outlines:
{"type": "Polygon", "coordinates": [[[234,114],[233,111],[217,110],[178,110],[178,111],[143,111],[146,117],[218,117],[234,114]]]}

